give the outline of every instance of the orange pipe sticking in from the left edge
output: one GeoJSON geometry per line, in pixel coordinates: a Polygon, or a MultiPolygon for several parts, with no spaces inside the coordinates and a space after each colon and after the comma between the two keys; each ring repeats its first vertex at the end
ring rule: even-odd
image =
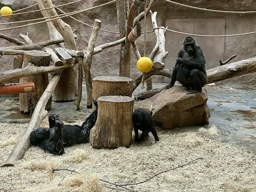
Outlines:
{"type": "Polygon", "coordinates": [[[0,95],[34,92],[33,82],[0,84],[0,95]]]}

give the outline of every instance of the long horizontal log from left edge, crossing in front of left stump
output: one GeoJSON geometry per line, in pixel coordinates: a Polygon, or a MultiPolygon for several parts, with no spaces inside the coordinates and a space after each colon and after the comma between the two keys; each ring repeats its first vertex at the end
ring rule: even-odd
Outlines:
{"type": "Polygon", "coordinates": [[[22,69],[15,69],[15,70],[8,70],[5,72],[0,72],[0,83],[6,82],[8,80],[12,80],[15,78],[22,78],[26,76],[31,76],[35,74],[43,74],[43,73],[50,73],[55,72],[58,70],[63,70],[66,68],[72,68],[77,63],[76,58],[71,63],[65,63],[62,66],[48,66],[48,67],[38,67],[36,68],[33,64],[28,64],[25,68],[22,69]]]}

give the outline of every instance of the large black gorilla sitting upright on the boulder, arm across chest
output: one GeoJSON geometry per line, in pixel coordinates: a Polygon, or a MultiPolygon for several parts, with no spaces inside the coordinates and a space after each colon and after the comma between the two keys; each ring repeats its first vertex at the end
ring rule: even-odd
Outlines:
{"type": "Polygon", "coordinates": [[[208,82],[205,63],[203,52],[196,40],[190,36],[186,37],[172,71],[172,80],[166,88],[173,87],[177,80],[190,90],[187,94],[202,92],[202,87],[208,82]]]}

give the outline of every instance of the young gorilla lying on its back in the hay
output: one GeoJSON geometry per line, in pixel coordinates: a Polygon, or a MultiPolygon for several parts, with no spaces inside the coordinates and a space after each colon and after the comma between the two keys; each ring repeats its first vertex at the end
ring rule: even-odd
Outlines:
{"type": "Polygon", "coordinates": [[[32,146],[40,146],[52,154],[64,154],[64,147],[73,144],[88,143],[90,130],[95,125],[98,115],[98,102],[93,100],[96,110],[85,119],[82,126],[63,125],[57,114],[50,114],[48,121],[50,128],[38,128],[30,133],[32,146]]]}

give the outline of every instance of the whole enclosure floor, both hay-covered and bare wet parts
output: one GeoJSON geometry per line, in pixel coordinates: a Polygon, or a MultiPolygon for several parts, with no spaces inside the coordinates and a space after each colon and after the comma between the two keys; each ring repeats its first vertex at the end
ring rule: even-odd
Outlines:
{"type": "MultiPolygon", "coordinates": [[[[31,147],[14,167],[1,168],[0,192],[117,191],[104,187],[114,186],[97,182],[93,176],[119,184],[141,182],[196,158],[203,159],[128,188],[136,192],[256,192],[256,88],[225,85],[207,90],[209,126],[158,128],[159,143],[154,144],[150,134],[145,143],[132,142],[130,148],[114,150],[95,150],[90,144],[80,144],[65,148],[63,156],[53,156],[31,147]],[[50,181],[50,164],[80,174],[56,171],[50,181]]],[[[135,92],[139,91],[140,87],[135,92]]],[[[91,112],[86,109],[85,98],[84,87],[81,112],[74,110],[74,102],[52,102],[50,113],[60,114],[65,123],[81,125],[91,112]]],[[[30,116],[19,113],[18,98],[0,98],[0,108],[2,164],[27,127],[27,123],[11,122],[28,122],[30,116]]],[[[42,126],[47,125],[47,121],[42,122],[42,126]]]]}

